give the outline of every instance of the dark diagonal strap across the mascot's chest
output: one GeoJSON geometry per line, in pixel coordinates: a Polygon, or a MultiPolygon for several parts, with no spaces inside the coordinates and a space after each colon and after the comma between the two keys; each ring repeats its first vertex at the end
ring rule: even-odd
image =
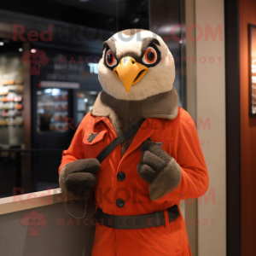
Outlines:
{"type": "Polygon", "coordinates": [[[101,163],[107,156],[110,154],[114,148],[116,148],[119,144],[123,143],[127,138],[131,137],[134,133],[140,129],[143,125],[145,119],[140,120],[136,125],[131,126],[130,129],[116,137],[111,143],[108,144],[106,148],[102,150],[102,152],[96,157],[97,160],[101,163]]]}

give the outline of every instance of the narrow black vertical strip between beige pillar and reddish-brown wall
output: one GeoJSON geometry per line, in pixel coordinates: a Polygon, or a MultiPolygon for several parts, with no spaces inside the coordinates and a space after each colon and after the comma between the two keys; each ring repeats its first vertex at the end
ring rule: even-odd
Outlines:
{"type": "Polygon", "coordinates": [[[239,0],[224,1],[227,255],[241,255],[239,0]]]}

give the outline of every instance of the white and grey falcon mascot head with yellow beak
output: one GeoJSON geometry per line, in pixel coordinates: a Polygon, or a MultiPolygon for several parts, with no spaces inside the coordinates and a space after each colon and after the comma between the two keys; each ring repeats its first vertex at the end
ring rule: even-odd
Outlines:
{"type": "Polygon", "coordinates": [[[175,67],[162,38],[146,30],[117,32],[103,44],[99,80],[110,96],[140,101],[172,90],[175,67]]]}

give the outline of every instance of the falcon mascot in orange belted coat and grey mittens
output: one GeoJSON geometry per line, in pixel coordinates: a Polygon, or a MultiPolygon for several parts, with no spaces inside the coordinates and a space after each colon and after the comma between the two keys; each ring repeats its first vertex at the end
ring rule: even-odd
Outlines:
{"type": "Polygon", "coordinates": [[[178,106],[175,67],[154,32],[104,42],[102,92],[62,154],[62,191],[94,194],[92,256],[189,256],[180,200],[204,195],[207,166],[193,119],[178,106]]]}

